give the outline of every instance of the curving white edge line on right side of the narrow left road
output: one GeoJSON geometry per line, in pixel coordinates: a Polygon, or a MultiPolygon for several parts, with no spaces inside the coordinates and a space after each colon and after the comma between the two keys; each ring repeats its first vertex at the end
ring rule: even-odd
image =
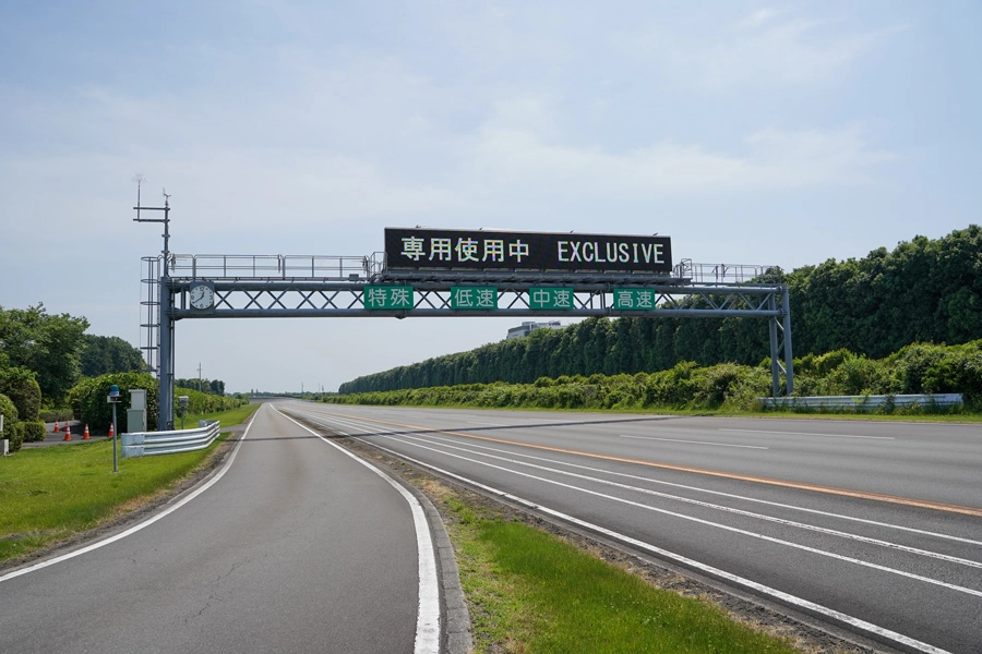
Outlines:
{"type": "MultiPolygon", "coordinates": [[[[419,610],[416,615],[416,646],[415,654],[439,654],[440,652],[440,584],[436,574],[436,554],[433,549],[433,540],[430,537],[430,524],[427,522],[427,514],[423,512],[422,505],[416,497],[406,491],[402,484],[394,479],[369,463],[356,457],[336,443],[332,443],[328,438],[324,438],[307,425],[300,424],[289,415],[283,413],[278,409],[277,413],[292,422],[294,424],[310,432],[331,447],[344,452],[355,461],[358,461],[380,477],[388,482],[393,488],[406,499],[412,511],[412,523],[416,528],[416,543],[419,552],[419,610]]],[[[347,434],[343,434],[347,436],[347,434]]]]}

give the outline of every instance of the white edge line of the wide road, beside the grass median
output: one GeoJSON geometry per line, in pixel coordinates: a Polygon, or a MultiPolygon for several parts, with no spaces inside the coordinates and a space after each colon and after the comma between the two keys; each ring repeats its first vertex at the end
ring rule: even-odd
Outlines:
{"type": "MultiPolygon", "coordinates": [[[[356,438],[358,438],[358,437],[356,437],[356,438]]],[[[610,536],[610,537],[612,537],[612,538],[616,538],[616,540],[619,540],[619,541],[621,541],[621,542],[623,542],[623,543],[627,543],[628,545],[634,545],[634,546],[636,546],[636,547],[639,547],[639,548],[642,548],[642,549],[645,549],[645,550],[650,552],[650,553],[652,553],[652,554],[656,554],[656,555],[658,555],[658,556],[668,558],[668,559],[670,559],[670,560],[678,561],[678,562],[680,562],[680,564],[682,564],[682,565],[684,565],[684,566],[688,566],[690,568],[695,568],[696,570],[700,570],[700,571],[703,571],[703,572],[706,572],[707,574],[712,574],[712,576],[718,577],[718,578],[720,578],[720,579],[724,579],[724,580],[727,580],[727,581],[730,581],[730,582],[740,584],[740,585],[742,585],[742,586],[744,586],[744,588],[752,589],[752,590],[757,591],[758,593],[762,593],[762,594],[764,594],[764,595],[769,595],[769,596],[771,596],[771,597],[776,597],[776,598],[778,598],[778,600],[780,600],[780,601],[782,601],[782,602],[786,602],[786,603],[788,603],[788,604],[791,604],[791,605],[793,605],[793,606],[798,606],[798,607],[800,607],[800,608],[804,608],[804,609],[807,609],[807,610],[817,613],[817,614],[819,614],[819,615],[823,615],[823,616],[825,616],[825,617],[827,617],[827,618],[830,618],[830,619],[834,619],[834,620],[838,620],[838,621],[840,621],[840,622],[843,622],[843,623],[846,623],[846,625],[849,625],[849,626],[853,627],[854,629],[860,629],[860,630],[865,631],[865,632],[867,632],[867,633],[876,634],[876,635],[878,635],[878,637],[881,637],[881,638],[884,638],[884,639],[894,641],[894,642],[896,642],[896,643],[901,643],[901,644],[907,645],[907,646],[909,646],[909,647],[913,647],[913,649],[915,649],[915,650],[918,650],[918,651],[920,651],[920,652],[925,652],[926,654],[951,654],[951,653],[948,652],[947,650],[942,650],[941,647],[935,647],[934,645],[924,643],[924,642],[919,641],[919,640],[914,640],[914,639],[912,639],[912,638],[910,638],[910,637],[908,637],[908,635],[903,635],[902,633],[898,633],[898,632],[896,632],[896,631],[890,631],[889,629],[884,629],[883,627],[878,627],[878,626],[876,626],[876,625],[873,625],[872,622],[867,622],[867,621],[865,621],[865,620],[861,620],[861,619],[859,619],[859,618],[854,618],[854,617],[852,617],[852,616],[850,616],[850,615],[840,613],[840,611],[835,610],[835,609],[833,609],[833,608],[828,608],[828,607],[823,606],[823,605],[821,605],[821,604],[816,604],[816,603],[814,603],[814,602],[810,602],[810,601],[804,600],[804,598],[802,598],[802,597],[798,597],[798,596],[795,596],[795,595],[791,595],[791,594],[789,594],[789,593],[785,593],[783,591],[779,591],[779,590],[777,590],[777,589],[773,589],[773,588],[767,586],[767,585],[764,585],[764,584],[762,584],[762,583],[757,583],[757,582],[752,581],[752,580],[750,580],[750,579],[746,579],[746,578],[743,578],[743,577],[739,577],[739,576],[736,576],[736,574],[732,574],[732,573],[727,572],[727,571],[724,571],[724,570],[720,570],[719,568],[714,568],[712,566],[708,566],[708,565],[706,565],[706,564],[702,564],[702,562],[699,562],[699,561],[697,561],[697,560],[691,559],[691,558],[688,558],[688,557],[682,556],[682,555],[680,555],[680,554],[675,554],[674,552],[670,552],[670,550],[668,550],[668,549],[662,549],[661,547],[657,547],[657,546],[655,546],[655,545],[651,545],[650,543],[645,543],[644,541],[638,541],[637,538],[632,538],[631,536],[627,536],[627,535],[625,535],[625,534],[615,532],[615,531],[613,531],[613,530],[610,530],[610,529],[600,526],[599,524],[594,524],[594,523],[591,523],[591,522],[587,522],[586,520],[580,520],[579,518],[574,518],[573,516],[568,516],[568,514],[563,513],[563,512],[561,512],[561,511],[556,511],[555,509],[551,509],[551,508],[546,507],[546,506],[542,506],[542,505],[540,505],[540,504],[536,504],[536,502],[530,501],[530,500],[528,500],[528,499],[525,499],[525,498],[523,498],[523,497],[518,497],[517,495],[512,495],[511,493],[505,493],[504,491],[500,491],[500,489],[498,489],[498,488],[495,488],[495,487],[493,487],[493,486],[488,486],[487,484],[481,484],[480,482],[476,482],[476,481],[474,481],[474,480],[471,480],[471,479],[468,479],[468,477],[465,477],[465,476],[463,476],[463,475],[455,474],[455,473],[453,473],[453,472],[450,472],[448,470],[443,470],[442,468],[438,468],[436,465],[432,465],[432,464],[427,463],[427,462],[424,462],[424,461],[420,461],[420,460],[418,460],[418,459],[414,459],[412,457],[408,457],[408,456],[406,456],[406,455],[404,455],[404,453],[402,453],[402,452],[398,452],[398,451],[395,451],[395,450],[393,450],[393,449],[383,447],[383,446],[378,445],[378,444],[375,444],[375,443],[371,443],[371,441],[366,440],[366,439],[363,439],[363,438],[358,438],[358,440],[361,440],[361,441],[364,443],[366,445],[371,445],[371,446],[373,446],[373,447],[378,447],[379,449],[384,450],[384,451],[387,451],[387,452],[390,452],[391,455],[393,455],[393,456],[395,456],[395,457],[398,457],[398,458],[400,458],[400,459],[405,459],[405,460],[407,460],[407,461],[411,461],[412,463],[416,463],[416,464],[418,464],[418,465],[422,465],[423,468],[429,468],[430,470],[433,470],[433,471],[435,471],[435,472],[439,472],[440,474],[445,474],[445,475],[447,475],[447,476],[450,476],[450,477],[459,480],[459,481],[462,481],[462,482],[464,482],[464,483],[466,483],[466,484],[471,484],[471,485],[474,485],[474,486],[476,486],[476,487],[478,487],[478,488],[481,488],[481,489],[483,489],[483,491],[487,491],[488,493],[491,493],[491,494],[493,494],[493,495],[498,495],[499,497],[503,497],[503,498],[508,499],[508,500],[511,500],[511,501],[515,501],[515,502],[522,504],[522,505],[524,505],[524,506],[526,506],[526,507],[529,507],[529,508],[531,508],[531,509],[536,509],[536,510],[542,511],[543,513],[548,513],[548,514],[550,514],[550,516],[554,516],[554,517],[559,518],[560,520],[568,521],[568,522],[571,522],[571,523],[573,523],[573,524],[578,524],[579,526],[583,526],[583,528],[585,528],[585,529],[592,530],[592,531],[596,531],[596,532],[598,532],[598,533],[608,535],[608,536],[610,536]]]]}

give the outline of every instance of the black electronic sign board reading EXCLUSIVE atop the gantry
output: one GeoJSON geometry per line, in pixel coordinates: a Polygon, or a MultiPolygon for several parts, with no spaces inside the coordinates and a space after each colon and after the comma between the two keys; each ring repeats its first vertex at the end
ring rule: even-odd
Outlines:
{"type": "Polygon", "coordinates": [[[385,228],[393,270],[570,270],[668,275],[669,237],[385,228]]]}

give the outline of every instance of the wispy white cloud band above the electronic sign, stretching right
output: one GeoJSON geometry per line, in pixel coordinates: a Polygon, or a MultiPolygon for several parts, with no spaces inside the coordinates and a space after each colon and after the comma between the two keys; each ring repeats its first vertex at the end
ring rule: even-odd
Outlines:
{"type": "Polygon", "coordinates": [[[871,184],[876,166],[894,158],[875,149],[855,125],[766,129],[746,136],[740,152],[661,141],[618,153],[551,143],[530,130],[492,122],[475,140],[472,177],[500,191],[535,187],[572,197],[785,192],[871,184]]]}

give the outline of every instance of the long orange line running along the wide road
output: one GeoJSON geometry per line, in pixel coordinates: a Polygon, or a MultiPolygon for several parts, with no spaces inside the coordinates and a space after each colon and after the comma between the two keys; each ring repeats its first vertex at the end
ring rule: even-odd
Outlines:
{"type": "Polygon", "coordinates": [[[466,434],[464,432],[452,432],[450,429],[438,429],[434,427],[422,427],[418,425],[409,425],[404,423],[390,422],[373,417],[352,419],[345,413],[332,413],[330,411],[319,411],[324,415],[333,415],[336,417],[345,417],[348,420],[363,420],[367,422],[381,423],[384,425],[393,425],[403,428],[409,428],[423,433],[447,434],[451,436],[460,436],[463,438],[472,438],[475,440],[484,440],[488,443],[498,443],[501,445],[512,445],[515,447],[527,447],[530,449],[543,450],[549,452],[559,452],[564,455],[575,455],[577,457],[587,457],[590,459],[600,459],[603,461],[615,461],[618,463],[632,463],[635,465],[645,465],[648,468],[658,468],[661,470],[674,470],[676,472],[690,472],[694,474],[704,474],[708,476],[722,477],[727,480],[736,480],[741,482],[753,482],[755,484],[767,484],[769,486],[780,486],[782,488],[793,488],[795,491],[812,491],[814,493],[825,493],[826,495],[839,495],[843,497],[854,497],[858,499],[871,499],[873,501],[883,501],[888,504],[903,505],[908,507],[918,507],[921,509],[933,509],[937,511],[948,511],[950,513],[962,513],[965,516],[974,516],[982,518],[982,508],[965,507],[961,505],[945,504],[932,501],[930,499],[912,499],[909,497],[900,497],[897,495],[885,495],[883,493],[872,493],[869,491],[852,491],[850,488],[837,488],[836,486],[823,486],[819,484],[807,484],[804,482],[791,482],[788,480],[776,480],[750,474],[740,474],[735,472],[723,472],[719,470],[709,470],[706,468],[693,468],[691,465],[678,465],[675,463],[662,463],[660,461],[646,461],[644,459],[631,459],[626,457],[614,457],[612,455],[600,455],[597,452],[585,452],[582,450],[565,449],[561,447],[552,447],[548,445],[535,445],[530,443],[520,443],[517,440],[507,440],[505,438],[493,438],[491,436],[478,436],[476,434],[466,434]]]}

